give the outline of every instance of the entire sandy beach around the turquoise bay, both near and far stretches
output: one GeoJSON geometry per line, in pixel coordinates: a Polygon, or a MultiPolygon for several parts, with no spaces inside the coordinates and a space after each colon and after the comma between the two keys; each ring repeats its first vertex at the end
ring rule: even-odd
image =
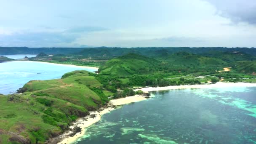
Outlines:
{"type": "MultiPolygon", "coordinates": [[[[185,88],[224,88],[224,87],[256,87],[256,83],[224,83],[224,82],[218,82],[215,84],[204,84],[204,85],[176,85],[176,86],[166,86],[166,87],[149,87],[149,88],[141,88],[141,89],[136,89],[135,91],[142,90],[143,92],[147,93],[150,91],[164,91],[164,90],[175,90],[175,89],[185,89],[185,88]]],[[[137,102],[137,101],[143,101],[146,100],[144,96],[140,95],[135,95],[135,96],[128,96],[125,98],[120,98],[120,99],[113,99],[109,101],[110,104],[114,106],[119,106],[123,104],[129,104],[132,102],[137,102]]],[[[60,139],[62,139],[58,144],[72,144],[74,141],[82,137],[86,131],[86,128],[89,127],[90,125],[98,122],[101,119],[101,116],[106,114],[107,112],[110,112],[114,110],[115,108],[109,107],[106,109],[103,109],[100,112],[93,111],[90,112],[90,115],[94,115],[95,117],[84,117],[79,120],[74,124],[76,127],[80,127],[81,132],[77,133],[75,136],[68,136],[71,131],[64,133],[60,139]]],[[[74,128],[74,126],[70,126],[70,128],[74,128]]]]}

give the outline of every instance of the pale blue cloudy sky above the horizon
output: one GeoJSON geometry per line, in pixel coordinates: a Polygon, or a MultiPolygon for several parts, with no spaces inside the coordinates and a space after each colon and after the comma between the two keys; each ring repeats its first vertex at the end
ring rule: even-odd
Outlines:
{"type": "Polygon", "coordinates": [[[0,46],[256,47],[256,0],[0,0],[0,46]]]}

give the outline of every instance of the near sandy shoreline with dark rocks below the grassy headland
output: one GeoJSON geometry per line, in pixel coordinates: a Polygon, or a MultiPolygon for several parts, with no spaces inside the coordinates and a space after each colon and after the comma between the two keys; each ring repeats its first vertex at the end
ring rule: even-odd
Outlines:
{"type": "Polygon", "coordinates": [[[57,140],[57,141],[52,141],[50,142],[50,144],[55,142],[57,144],[72,144],[85,134],[86,128],[88,128],[89,126],[101,120],[102,115],[117,109],[116,106],[143,101],[146,99],[147,98],[141,95],[127,96],[125,98],[120,98],[120,99],[112,99],[111,101],[109,101],[109,105],[107,108],[105,107],[103,109],[100,109],[99,111],[92,111],[90,112],[90,115],[83,118],[79,118],[75,123],[73,123],[69,127],[70,129],[78,127],[80,128],[81,131],[78,131],[77,133],[75,133],[74,136],[70,136],[70,134],[72,134],[73,132],[69,130],[61,134],[60,136],[53,138],[53,140],[57,140]]]}

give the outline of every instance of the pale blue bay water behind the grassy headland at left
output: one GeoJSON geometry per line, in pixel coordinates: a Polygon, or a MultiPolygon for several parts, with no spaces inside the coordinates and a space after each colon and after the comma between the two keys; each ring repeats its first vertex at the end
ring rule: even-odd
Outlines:
{"type": "Polygon", "coordinates": [[[14,93],[25,83],[29,82],[29,80],[57,79],[61,78],[64,73],[74,70],[95,71],[95,69],[39,63],[35,61],[10,61],[0,63],[0,93],[14,93]]]}

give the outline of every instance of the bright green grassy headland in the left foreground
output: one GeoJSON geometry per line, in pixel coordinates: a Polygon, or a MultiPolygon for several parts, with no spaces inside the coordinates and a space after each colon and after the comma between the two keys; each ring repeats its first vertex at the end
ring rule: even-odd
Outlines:
{"type": "Polygon", "coordinates": [[[0,143],[40,144],[59,135],[107,103],[104,93],[111,92],[100,92],[101,86],[91,72],[74,71],[61,79],[29,81],[21,95],[0,95],[0,143]]]}

